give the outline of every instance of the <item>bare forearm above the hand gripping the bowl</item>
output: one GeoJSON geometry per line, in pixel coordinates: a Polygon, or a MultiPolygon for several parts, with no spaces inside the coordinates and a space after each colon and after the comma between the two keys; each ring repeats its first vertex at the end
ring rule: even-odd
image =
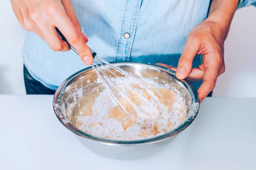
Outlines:
{"type": "Polygon", "coordinates": [[[213,0],[210,7],[208,21],[215,22],[222,29],[223,36],[227,37],[230,24],[236,12],[239,0],[213,0]]]}

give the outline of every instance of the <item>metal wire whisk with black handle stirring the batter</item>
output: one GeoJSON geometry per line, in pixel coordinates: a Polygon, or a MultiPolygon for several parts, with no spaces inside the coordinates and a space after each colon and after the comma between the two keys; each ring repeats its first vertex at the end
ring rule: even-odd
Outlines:
{"type": "MultiPolygon", "coordinates": [[[[65,36],[63,36],[63,34],[58,30],[58,28],[55,28],[56,31],[58,32],[58,34],[60,35],[60,37],[62,38],[63,41],[65,41],[68,46],[77,54],[77,51],[68,43],[67,39],[65,38],[65,36]]],[[[97,73],[98,77],[101,79],[105,89],[108,91],[111,100],[113,101],[113,103],[115,105],[117,105],[118,107],[120,106],[127,115],[129,115],[129,112],[127,111],[127,109],[125,108],[125,106],[120,102],[119,98],[120,97],[124,97],[128,100],[128,102],[131,104],[131,106],[136,110],[136,112],[140,112],[140,109],[138,109],[138,107],[136,106],[136,104],[134,104],[130,99],[127,98],[127,94],[125,94],[125,92],[123,92],[122,90],[119,89],[119,87],[111,80],[111,78],[106,74],[106,71],[109,71],[114,77],[120,79],[120,77],[118,75],[116,75],[116,73],[114,73],[112,70],[115,70],[115,72],[119,72],[120,74],[122,74],[124,77],[133,77],[136,78],[136,75],[132,75],[131,73],[120,69],[116,66],[114,66],[113,64],[110,64],[109,62],[103,60],[102,58],[98,57],[96,52],[94,52],[93,50],[91,50],[91,53],[93,54],[93,62],[91,64],[91,67],[95,70],[95,72],[97,73]],[[101,68],[104,67],[104,70],[101,68]],[[112,86],[111,86],[112,85],[112,86]],[[115,90],[113,89],[113,87],[118,91],[118,94],[115,92],[115,90]]],[[[122,81],[122,80],[121,80],[122,81]]],[[[134,81],[134,80],[131,80],[134,81]]],[[[136,82],[138,82],[139,80],[136,79],[136,82]]],[[[129,84],[128,84],[129,85],[129,84]]],[[[152,92],[152,90],[150,90],[150,87],[148,87],[147,85],[141,83],[140,84],[143,88],[145,88],[148,91],[148,94],[151,94],[151,96],[155,99],[155,100],[159,100],[158,97],[152,92]]],[[[129,88],[136,91],[136,89],[129,85],[129,88]]],[[[142,94],[140,94],[137,91],[137,94],[140,95],[141,98],[146,100],[146,97],[142,94]]],[[[147,101],[147,100],[146,100],[147,101]]],[[[150,101],[149,101],[150,102],[150,101]]],[[[147,111],[147,108],[142,108],[144,111],[147,111]]],[[[128,116],[127,116],[128,117],[128,116]]]]}

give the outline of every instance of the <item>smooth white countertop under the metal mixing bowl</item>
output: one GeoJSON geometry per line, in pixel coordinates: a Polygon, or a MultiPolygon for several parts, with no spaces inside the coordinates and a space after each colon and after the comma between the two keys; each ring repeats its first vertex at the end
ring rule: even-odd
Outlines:
{"type": "Polygon", "coordinates": [[[0,95],[0,169],[256,169],[256,98],[206,98],[163,151],[114,160],[84,147],[54,114],[51,95],[0,95]]]}

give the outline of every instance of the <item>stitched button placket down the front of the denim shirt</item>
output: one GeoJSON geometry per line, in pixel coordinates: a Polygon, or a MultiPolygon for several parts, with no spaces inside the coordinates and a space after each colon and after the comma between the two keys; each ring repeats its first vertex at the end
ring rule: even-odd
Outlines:
{"type": "Polygon", "coordinates": [[[119,39],[116,45],[115,61],[129,61],[142,0],[126,0],[119,39]]]}

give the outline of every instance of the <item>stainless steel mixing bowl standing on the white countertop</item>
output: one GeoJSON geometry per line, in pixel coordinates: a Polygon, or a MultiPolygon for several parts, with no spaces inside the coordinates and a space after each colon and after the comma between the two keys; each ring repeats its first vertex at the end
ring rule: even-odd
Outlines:
{"type": "MultiPolygon", "coordinates": [[[[96,72],[91,67],[74,73],[58,87],[53,98],[53,107],[56,116],[66,128],[76,134],[75,136],[84,146],[100,155],[117,159],[136,159],[159,152],[168,146],[170,141],[195,119],[199,109],[199,100],[196,90],[187,80],[177,79],[175,72],[165,67],[146,63],[122,62],[112,64],[141,77],[157,76],[157,81],[160,84],[165,81],[165,83],[179,90],[187,104],[188,115],[185,121],[177,128],[163,135],[134,141],[103,139],[77,129],[68,120],[67,113],[70,112],[69,107],[72,106],[72,103],[76,102],[77,98],[81,97],[81,94],[85,94],[86,91],[98,85],[97,83],[88,85],[90,84],[89,82],[94,82],[94,80],[98,78],[96,72]],[[80,90],[80,93],[75,93],[77,90],[80,90]],[[74,94],[80,94],[80,96],[74,96],[74,94]]],[[[102,69],[104,70],[104,67],[102,67],[102,69]]]]}

